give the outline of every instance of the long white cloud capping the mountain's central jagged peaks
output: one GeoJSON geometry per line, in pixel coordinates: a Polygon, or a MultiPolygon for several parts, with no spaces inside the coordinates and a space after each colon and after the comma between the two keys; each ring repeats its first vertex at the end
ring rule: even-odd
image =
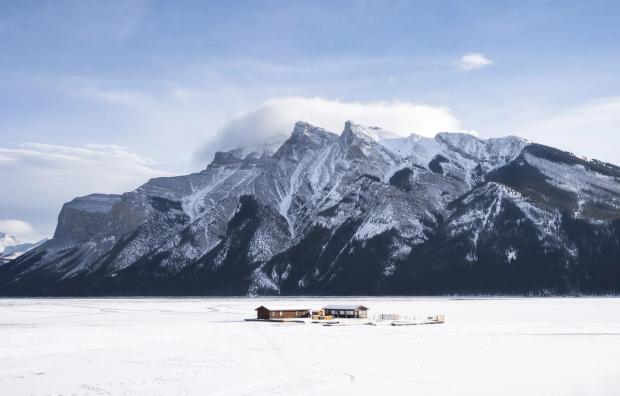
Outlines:
{"type": "Polygon", "coordinates": [[[211,136],[196,157],[204,163],[217,150],[287,137],[296,121],[307,121],[339,133],[346,120],[380,126],[405,136],[411,133],[434,136],[437,132],[461,129],[459,120],[443,106],[285,97],[268,100],[230,119],[211,136]]]}

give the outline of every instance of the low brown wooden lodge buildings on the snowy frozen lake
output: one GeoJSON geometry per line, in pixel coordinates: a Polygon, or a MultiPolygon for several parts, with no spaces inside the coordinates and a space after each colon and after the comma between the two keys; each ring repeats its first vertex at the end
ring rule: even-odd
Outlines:
{"type": "Polygon", "coordinates": [[[308,308],[267,308],[264,305],[255,309],[256,319],[278,320],[312,317],[317,319],[332,318],[368,318],[368,308],[363,305],[327,305],[320,310],[308,308]]]}

